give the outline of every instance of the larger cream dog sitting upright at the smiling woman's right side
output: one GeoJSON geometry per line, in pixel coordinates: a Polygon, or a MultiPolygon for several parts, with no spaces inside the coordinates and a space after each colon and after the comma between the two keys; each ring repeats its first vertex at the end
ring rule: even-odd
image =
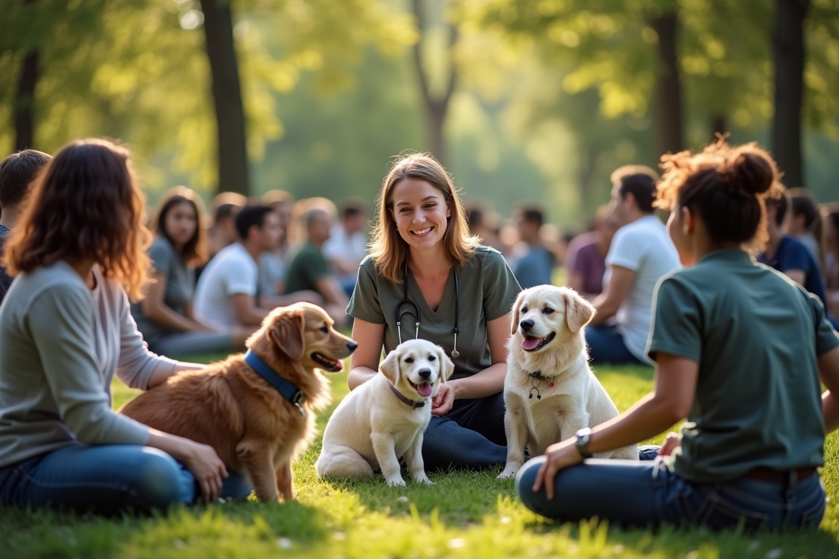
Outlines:
{"type": "MultiPolygon", "coordinates": [[[[588,366],[583,327],[595,309],[569,287],[525,289],[513,306],[504,380],[507,464],[499,479],[512,478],[530,456],[545,453],[583,427],[618,415],[618,408],[588,366]]],[[[638,445],[596,458],[638,459],[638,445]]]]}

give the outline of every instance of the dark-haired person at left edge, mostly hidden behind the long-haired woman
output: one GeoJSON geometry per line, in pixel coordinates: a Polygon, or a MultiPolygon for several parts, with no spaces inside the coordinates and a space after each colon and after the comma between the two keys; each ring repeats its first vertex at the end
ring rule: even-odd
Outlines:
{"type": "MultiPolygon", "coordinates": [[[[23,213],[23,204],[34,180],[51,159],[46,153],[24,149],[0,162],[0,257],[3,256],[8,234],[23,213]]],[[[0,303],[3,303],[11,285],[12,277],[6,273],[6,268],[0,266],[0,303]]]]}

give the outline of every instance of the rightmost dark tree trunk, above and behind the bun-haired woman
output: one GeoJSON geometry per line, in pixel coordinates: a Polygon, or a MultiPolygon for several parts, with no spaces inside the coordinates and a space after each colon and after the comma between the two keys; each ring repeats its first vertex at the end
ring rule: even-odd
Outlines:
{"type": "Polygon", "coordinates": [[[801,169],[801,97],[804,90],[804,20],[810,0],[778,0],[772,37],[775,116],[772,154],[788,188],[804,186],[801,169]]]}

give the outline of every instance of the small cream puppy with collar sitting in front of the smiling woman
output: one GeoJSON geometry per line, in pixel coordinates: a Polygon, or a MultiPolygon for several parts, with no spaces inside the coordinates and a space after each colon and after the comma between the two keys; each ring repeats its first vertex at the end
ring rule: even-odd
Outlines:
{"type": "Polygon", "coordinates": [[[367,478],[381,469],[388,485],[404,485],[399,458],[415,482],[425,476],[422,440],[431,420],[431,398],[455,365],[425,339],[399,344],[379,365],[381,374],[345,397],[323,433],[315,463],[319,478],[367,478]]]}

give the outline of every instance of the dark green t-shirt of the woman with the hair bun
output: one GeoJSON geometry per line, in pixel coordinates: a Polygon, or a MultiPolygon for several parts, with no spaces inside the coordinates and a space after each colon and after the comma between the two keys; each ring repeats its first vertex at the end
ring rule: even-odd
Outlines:
{"type": "Polygon", "coordinates": [[[744,251],[715,251],[664,276],[648,353],[699,363],[680,477],[710,484],[758,466],[821,466],[825,424],[817,358],[839,345],[821,302],[744,251]]]}

